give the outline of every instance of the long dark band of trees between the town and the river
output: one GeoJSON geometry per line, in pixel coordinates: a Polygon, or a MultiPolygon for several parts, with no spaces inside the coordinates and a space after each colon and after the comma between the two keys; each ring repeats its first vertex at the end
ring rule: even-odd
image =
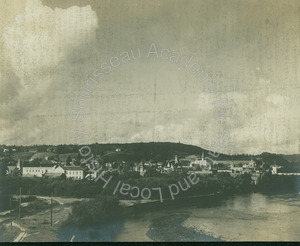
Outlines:
{"type": "MultiPolygon", "coordinates": [[[[46,178],[27,178],[15,176],[1,176],[0,192],[1,194],[18,194],[19,188],[22,187],[24,195],[44,195],[49,196],[53,192],[54,196],[66,197],[95,197],[100,194],[112,194],[117,183],[128,183],[131,187],[138,186],[139,188],[156,188],[161,187],[163,191],[167,191],[168,186],[181,182],[185,185],[184,179],[188,181],[187,173],[171,173],[160,177],[140,177],[134,173],[119,174],[115,172],[107,172],[105,179],[111,176],[111,181],[103,189],[104,181],[99,179],[97,182],[91,180],[69,180],[64,178],[46,179],[46,178]]],[[[257,186],[251,183],[249,174],[238,175],[232,177],[228,173],[219,173],[217,175],[198,175],[199,182],[196,185],[190,185],[191,188],[179,195],[197,195],[210,194],[215,192],[224,193],[240,193],[249,191],[290,191],[299,190],[300,176],[281,176],[271,175],[270,173],[263,174],[257,186]]],[[[189,182],[190,183],[190,182],[189,182]]],[[[116,193],[118,198],[124,198],[124,195],[116,193]]],[[[130,199],[130,196],[126,197],[130,199]]],[[[156,197],[154,198],[156,199],[156,197]]]]}

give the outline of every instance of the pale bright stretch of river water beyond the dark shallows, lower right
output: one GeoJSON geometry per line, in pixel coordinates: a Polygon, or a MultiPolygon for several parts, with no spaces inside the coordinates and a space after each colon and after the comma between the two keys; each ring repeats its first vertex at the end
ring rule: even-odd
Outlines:
{"type": "Polygon", "coordinates": [[[299,194],[239,195],[220,207],[190,208],[187,228],[226,241],[299,241],[299,194]]]}

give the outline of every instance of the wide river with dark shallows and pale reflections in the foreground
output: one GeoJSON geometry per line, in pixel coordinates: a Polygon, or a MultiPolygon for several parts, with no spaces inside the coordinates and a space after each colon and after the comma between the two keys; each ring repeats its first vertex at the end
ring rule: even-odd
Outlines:
{"type": "Polygon", "coordinates": [[[300,241],[299,218],[299,194],[251,193],[140,211],[105,228],[72,232],[74,241],[300,241]]]}

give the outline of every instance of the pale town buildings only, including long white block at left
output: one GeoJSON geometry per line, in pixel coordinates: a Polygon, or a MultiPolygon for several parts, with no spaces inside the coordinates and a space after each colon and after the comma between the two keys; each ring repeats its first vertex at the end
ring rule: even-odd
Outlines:
{"type": "MultiPolygon", "coordinates": [[[[67,159],[66,155],[64,159],[67,159]]],[[[37,156],[39,157],[39,156],[37,156]]],[[[75,155],[71,158],[71,164],[75,160],[75,155]]],[[[28,163],[21,163],[18,160],[16,165],[8,166],[7,174],[11,174],[14,171],[19,171],[19,174],[23,177],[59,177],[65,174],[66,178],[72,178],[75,180],[81,180],[84,178],[93,179],[96,177],[96,173],[88,172],[80,166],[72,165],[66,166],[66,163],[58,163],[57,161],[48,160],[44,158],[43,162],[34,162],[32,158],[28,163]]],[[[63,159],[62,157],[60,159],[63,159]]],[[[66,161],[66,160],[64,160],[66,161]]],[[[238,175],[244,173],[259,174],[260,167],[252,159],[247,160],[218,160],[218,165],[212,165],[211,161],[204,157],[202,152],[202,158],[200,160],[194,160],[189,162],[179,161],[175,156],[173,160],[169,160],[166,163],[157,162],[140,162],[129,165],[126,162],[106,163],[104,170],[125,170],[132,172],[138,172],[141,176],[144,176],[149,168],[155,169],[158,173],[170,173],[170,172],[195,172],[198,174],[216,174],[216,173],[230,173],[231,175],[238,175]]]]}

